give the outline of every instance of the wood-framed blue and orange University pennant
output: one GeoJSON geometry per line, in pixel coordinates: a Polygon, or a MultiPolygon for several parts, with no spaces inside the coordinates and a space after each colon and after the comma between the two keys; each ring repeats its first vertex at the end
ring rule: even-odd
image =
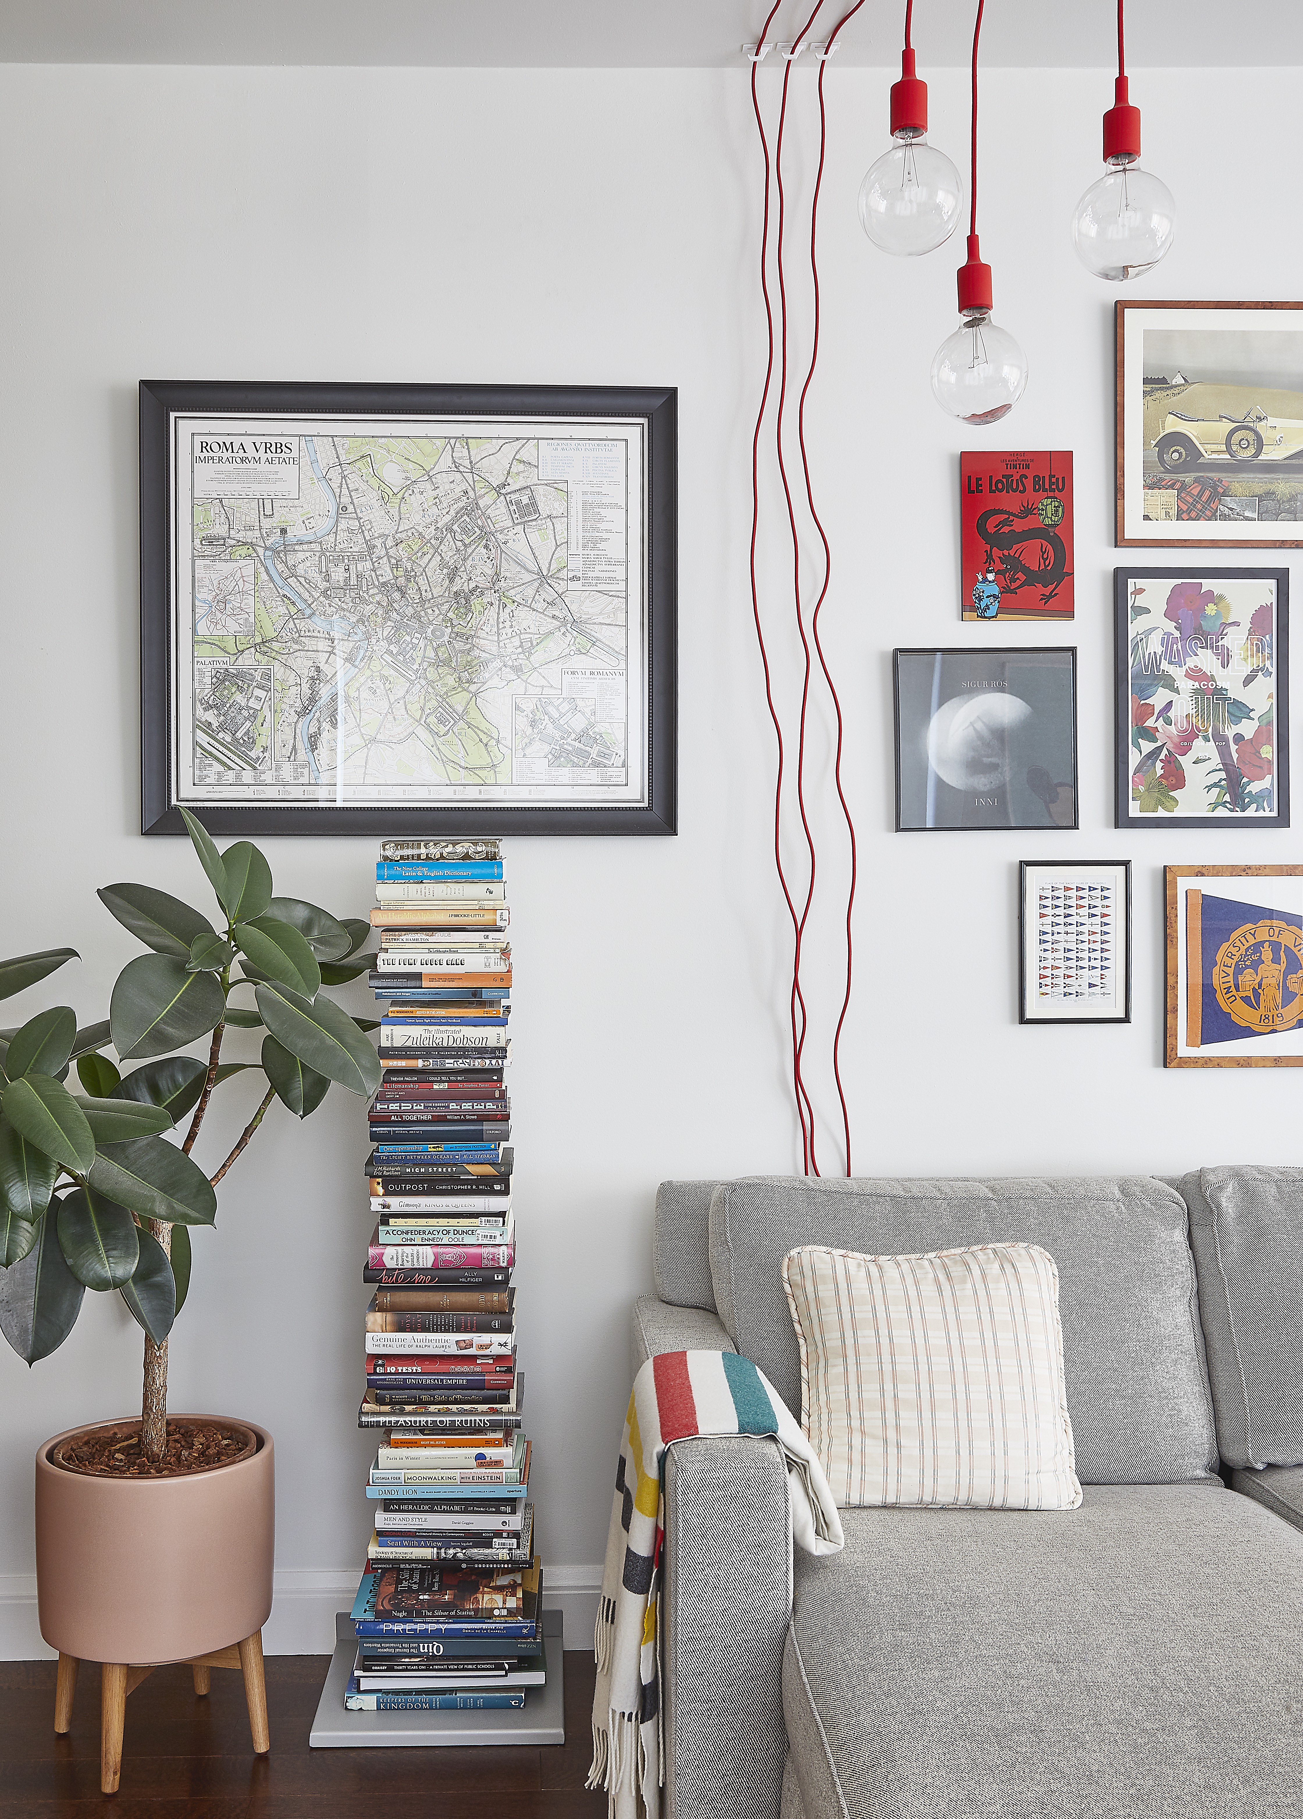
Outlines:
{"type": "Polygon", "coordinates": [[[1168,866],[1168,1068],[1303,1068],[1303,866],[1168,866]]]}

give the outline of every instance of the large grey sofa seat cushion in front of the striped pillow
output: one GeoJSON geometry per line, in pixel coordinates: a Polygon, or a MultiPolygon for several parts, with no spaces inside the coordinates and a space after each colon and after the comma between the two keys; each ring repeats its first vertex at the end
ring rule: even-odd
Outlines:
{"type": "Polygon", "coordinates": [[[1214,1484],[1079,1510],[850,1510],[797,1555],[806,1819],[1303,1812],[1303,1533],[1214,1484]]]}

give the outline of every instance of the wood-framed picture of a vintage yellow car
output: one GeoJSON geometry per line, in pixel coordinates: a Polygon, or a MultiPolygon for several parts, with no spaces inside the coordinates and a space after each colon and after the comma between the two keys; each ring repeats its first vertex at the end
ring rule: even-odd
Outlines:
{"type": "Polygon", "coordinates": [[[1303,304],[1114,311],[1117,544],[1303,548],[1303,304]]]}

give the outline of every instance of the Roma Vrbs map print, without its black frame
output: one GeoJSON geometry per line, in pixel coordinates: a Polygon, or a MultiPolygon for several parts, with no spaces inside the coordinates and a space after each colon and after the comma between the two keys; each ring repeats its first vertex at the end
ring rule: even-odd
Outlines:
{"type": "Polygon", "coordinates": [[[187,420],[178,799],[639,800],[641,464],[637,424],[187,420]]]}

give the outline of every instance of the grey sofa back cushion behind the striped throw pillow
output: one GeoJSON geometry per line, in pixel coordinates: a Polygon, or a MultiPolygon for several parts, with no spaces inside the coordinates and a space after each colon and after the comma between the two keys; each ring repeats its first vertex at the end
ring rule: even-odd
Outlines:
{"type": "Polygon", "coordinates": [[[1068,1413],[1083,1484],[1172,1484],[1217,1459],[1185,1201],[1148,1177],[750,1177],[710,1202],[715,1306],[737,1350],[801,1408],[783,1293],[797,1244],[874,1255],[1043,1244],[1059,1268],[1068,1413]]]}

